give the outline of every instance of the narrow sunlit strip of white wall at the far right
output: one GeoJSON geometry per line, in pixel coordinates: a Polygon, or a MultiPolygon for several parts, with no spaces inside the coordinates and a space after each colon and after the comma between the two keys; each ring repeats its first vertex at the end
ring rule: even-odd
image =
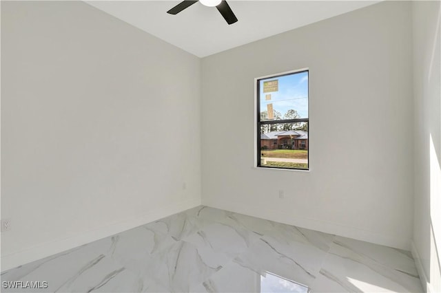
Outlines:
{"type": "Polygon", "coordinates": [[[441,292],[441,6],[414,1],[413,253],[428,292],[441,292]]]}

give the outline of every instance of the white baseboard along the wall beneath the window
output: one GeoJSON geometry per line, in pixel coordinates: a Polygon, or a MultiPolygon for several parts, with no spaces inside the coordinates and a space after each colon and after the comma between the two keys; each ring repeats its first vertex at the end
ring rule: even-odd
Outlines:
{"type": "Polygon", "coordinates": [[[213,208],[220,208],[223,210],[230,210],[235,213],[241,213],[244,215],[250,215],[253,217],[260,217],[263,219],[269,219],[271,221],[278,221],[289,225],[298,226],[301,228],[307,228],[329,234],[339,235],[342,237],[348,237],[351,239],[357,239],[361,241],[367,241],[370,243],[376,243],[383,246],[389,246],[393,248],[400,248],[402,250],[411,250],[411,239],[404,239],[397,237],[396,235],[382,235],[376,232],[362,230],[351,226],[343,226],[340,224],[330,223],[327,221],[320,221],[317,219],[309,219],[305,217],[296,217],[291,213],[284,213],[280,210],[271,209],[268,207],[262,208],[260,206],[253,206],[252,204],[245,204],[242,202],[211,202],[204,200],[202,202],[205,206],[211,206],[213,208]]]}

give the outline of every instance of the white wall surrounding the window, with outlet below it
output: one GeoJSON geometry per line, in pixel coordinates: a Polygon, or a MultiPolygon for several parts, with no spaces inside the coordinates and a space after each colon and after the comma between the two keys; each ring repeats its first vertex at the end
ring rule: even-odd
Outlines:
{"type": "Polygon", "coordinates": [[[409,32],[387,1],[203,58],[203,204],[409,249],[409,32]],[[311,171],[255,169],[254,78],[305,67],[311,171]]]}

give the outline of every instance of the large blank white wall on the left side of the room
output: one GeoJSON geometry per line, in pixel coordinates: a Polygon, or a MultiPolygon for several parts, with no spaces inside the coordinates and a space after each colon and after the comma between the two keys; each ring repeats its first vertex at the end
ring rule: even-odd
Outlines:
{"type": "Polygon", "coordinates": [[[1,43],[2,270],[201,203],[199,58],[79,1],[1,43]]]}

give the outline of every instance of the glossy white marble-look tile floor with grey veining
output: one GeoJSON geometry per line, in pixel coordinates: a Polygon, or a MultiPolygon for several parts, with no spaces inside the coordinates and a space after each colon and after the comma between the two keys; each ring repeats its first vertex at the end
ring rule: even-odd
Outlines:
{"type": "Polygon", "coordinates": [[[205,206],[2,272],[1,281],[3,292],[422,292],[410,252],[205,206]]]}

